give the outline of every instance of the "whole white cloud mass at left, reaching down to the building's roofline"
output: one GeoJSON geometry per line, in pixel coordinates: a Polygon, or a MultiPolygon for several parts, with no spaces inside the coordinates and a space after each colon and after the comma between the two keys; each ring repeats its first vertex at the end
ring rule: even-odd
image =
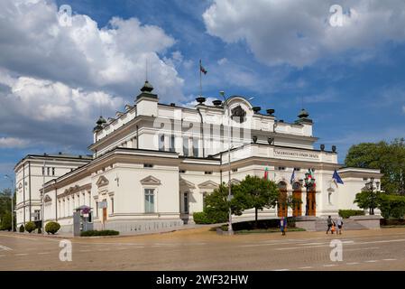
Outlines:
{"type": "Polygon", "coordinates": [[[162,102],[185,100],[183,79],[164,61],[176,40],[160,27],[117,17],[98,27],[85,14],[61,26],[58,10],[52,0],[0,1],[0,147],[86,150],[99,114],[133,103],[146,62],[162,102]]]}

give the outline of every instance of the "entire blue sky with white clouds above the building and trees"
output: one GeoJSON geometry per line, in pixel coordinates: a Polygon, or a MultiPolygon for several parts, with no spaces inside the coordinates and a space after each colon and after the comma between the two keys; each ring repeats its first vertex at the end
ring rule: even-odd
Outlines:
{"type": "Polygon", "coordinates": [[[199,59],[207,97],[254,97],[285,121],[303,101],[342,163],[352,144],[405,136],[403,0],[1,0],[0,188],[25,154],[88,154],[146,63],[161,102],[189,103],[199,59]]]}

